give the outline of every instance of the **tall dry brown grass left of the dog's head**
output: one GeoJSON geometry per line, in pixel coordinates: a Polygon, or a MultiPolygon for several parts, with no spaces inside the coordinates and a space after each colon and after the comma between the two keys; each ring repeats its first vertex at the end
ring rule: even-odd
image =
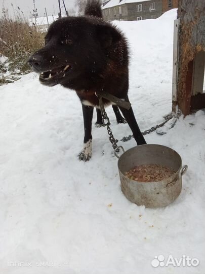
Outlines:
{"type": "Polygon", "coordinates": [[[27,59],[44,45],[45,34],[30,27],[20,9],[15,12],[14,19],[9,18],[8,12],[3,9],[0,26],[0,54],[9,58],[9,70],[29,72],[27,59]]]}

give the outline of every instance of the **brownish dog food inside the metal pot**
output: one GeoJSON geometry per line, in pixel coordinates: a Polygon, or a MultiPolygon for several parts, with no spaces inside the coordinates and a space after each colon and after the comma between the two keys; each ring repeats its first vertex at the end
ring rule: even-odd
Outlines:
{"type": "Polygon", "coordinates": [[[157,182],[169,178],[174,173],[172,168],[164,165],[142,164],[126,172],[126,176],[138,182],[157,182]]]}

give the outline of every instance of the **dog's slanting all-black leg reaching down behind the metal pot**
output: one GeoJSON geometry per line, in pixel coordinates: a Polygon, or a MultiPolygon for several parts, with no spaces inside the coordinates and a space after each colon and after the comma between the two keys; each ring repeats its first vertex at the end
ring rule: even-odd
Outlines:
{"type": "MultiPolygon", "coordinates": [[[[126,101],[129,102],[128,97],[126,98],[126,101]]],[[[128,124],[133,132],[133,136],[135,138],[135,141],[137,142],[137,145],[146,144],[144,136],[142,135],[142,132],[140,131],[140,128],[139,128],[137,121],[135,119],[133,109],[130,108],[129,110],[127,110],[122,107],[119,107],[119,109],[122,112],[122,114],[124,115],[124,117],[126,118],[126,121],[128,122],[128,124]]]]}

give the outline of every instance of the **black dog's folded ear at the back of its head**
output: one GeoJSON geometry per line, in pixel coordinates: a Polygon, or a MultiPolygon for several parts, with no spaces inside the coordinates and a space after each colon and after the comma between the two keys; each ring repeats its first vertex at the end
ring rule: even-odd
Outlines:
{"type": "Polygon", "coordinates": [[[122,39],[121,33],[115,27],[110,25],[99,24],[97,26],[97,36],[100,44],[104,48],[108,48],[112,44],[122,39]]]}

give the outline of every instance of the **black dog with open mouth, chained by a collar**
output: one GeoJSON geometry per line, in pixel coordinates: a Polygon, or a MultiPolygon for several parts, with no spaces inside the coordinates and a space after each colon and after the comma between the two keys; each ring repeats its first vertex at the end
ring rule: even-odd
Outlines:
{"type": "MultiPolygon", "coordinates": [[[[55,21],[49,27],[45,40],[45,47],[35,52],[28,62],[33,71],[40,74],[40,83],[47,86],[61,84],[76,91],[83,108],[85,129],[84,148],[79,159],[87,161],[92,154],[93,109],[99,108],[95,92],[104,90],[129,101],[126,38],[102,20],[101,2],[89,0],[85,17],[66,17],[55,21]]],[[[105,106],[111,104],[106,99],[103,102],[105,106]]],[[[132,108],[119,109],[137,144],[146,144],[132,108]]]]}

